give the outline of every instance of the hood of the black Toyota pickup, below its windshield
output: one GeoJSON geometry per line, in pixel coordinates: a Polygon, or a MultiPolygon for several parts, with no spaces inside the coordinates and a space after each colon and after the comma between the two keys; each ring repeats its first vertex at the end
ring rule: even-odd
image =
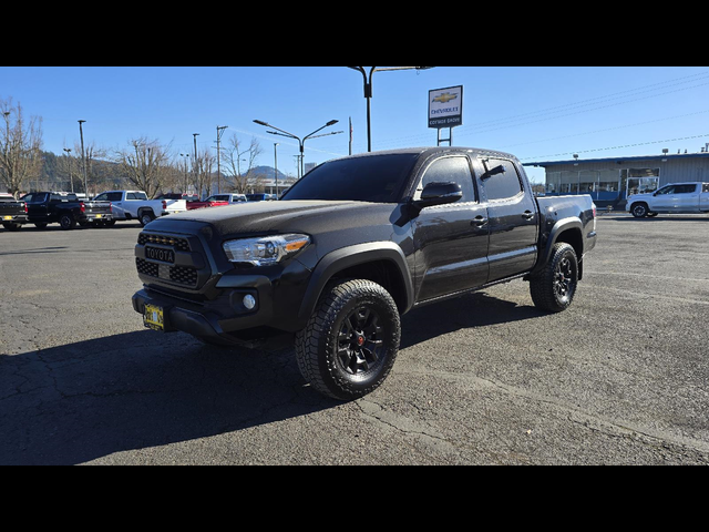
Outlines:
{"type": "Polygon", "coordinates": [[[162,222],[169,225],[201,222],[209,224],[222,237],[268,233],[322,234],[372,225],[387,224],[390,227],[392,211],[397,208],[394,204],[339,201],[254,202],[171,214],[151,225],[158,229],[162,222]]]}

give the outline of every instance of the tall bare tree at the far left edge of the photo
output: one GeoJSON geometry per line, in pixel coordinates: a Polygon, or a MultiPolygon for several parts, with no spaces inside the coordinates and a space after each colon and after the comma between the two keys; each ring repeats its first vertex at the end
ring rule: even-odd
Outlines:
{"type": "Polygon", "coordinates": [[[12,99],[0,101],[4,129],[0,129],[0,183],[16,198],[24,183],[39,178],[42,170],[42,119],[32,116],[25,123],[22,106],[12,99]]]}

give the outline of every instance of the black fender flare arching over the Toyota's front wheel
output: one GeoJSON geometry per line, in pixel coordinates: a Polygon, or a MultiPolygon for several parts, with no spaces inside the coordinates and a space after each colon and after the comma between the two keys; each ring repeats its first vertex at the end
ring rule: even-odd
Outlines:
{"type": "Polygon", "coordinates": [[[312,315],[325,286],[338,272],[376,260],[389,260],[394,264],[405,288],[405,301],[401,306],[401,314],[410,310],[413,306],[413,282],[403,252],[393,242],[369,242],[341,247],[328,253],[318,262],[300,304],[299,320],[305,321],[312,315]]]}

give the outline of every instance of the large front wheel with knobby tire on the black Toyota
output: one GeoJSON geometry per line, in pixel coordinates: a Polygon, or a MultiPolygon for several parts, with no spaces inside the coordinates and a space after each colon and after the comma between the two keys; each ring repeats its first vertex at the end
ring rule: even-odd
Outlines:
{"type": "Polygon", "coordinates": [[[338,282],[296,335],[298,368],[320,393],[358,399],[384,381],[400,338],[399,309],[383,287],[367,279],[338,282]]]}

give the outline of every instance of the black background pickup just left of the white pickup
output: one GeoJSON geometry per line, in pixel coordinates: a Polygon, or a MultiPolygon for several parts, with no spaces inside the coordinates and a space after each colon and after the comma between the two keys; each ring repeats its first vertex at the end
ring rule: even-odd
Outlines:
{"type": "Polygon", "coordinates": [[[64,192],[32,192],[21,200],[27,203],[29,222],[40,229],[48,224],[73,229],[76,224],[102,226],[115,223],[111,202],[82,202],[75,194],[64,192]]]}

